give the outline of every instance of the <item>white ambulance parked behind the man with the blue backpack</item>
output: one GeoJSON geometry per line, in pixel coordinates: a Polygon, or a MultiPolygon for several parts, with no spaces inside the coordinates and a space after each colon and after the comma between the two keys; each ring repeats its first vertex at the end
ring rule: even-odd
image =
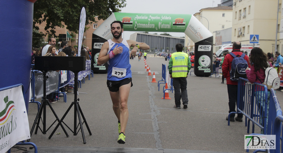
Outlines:
{"type": "MultiPolygon", "coordinates": [[[[222,59],[223,58],[223,54],[226,53],[227,51],[229,51],[231,53],[231,51],[233,50],[232,49],[232,46],[233,44],[229,44],[229,45],[223,45],[218,51],[216,51],[216,56],[219,58],[219,59],[222,59]]],[[[241,51],[244,51],[244,53],[246,55],[250,55],[250,51],[252,50],[253,48],[253,44],[241,44],[241,51]]],[[[260,44],[255,44],[254,47],[260,47],[260,44]]]]}

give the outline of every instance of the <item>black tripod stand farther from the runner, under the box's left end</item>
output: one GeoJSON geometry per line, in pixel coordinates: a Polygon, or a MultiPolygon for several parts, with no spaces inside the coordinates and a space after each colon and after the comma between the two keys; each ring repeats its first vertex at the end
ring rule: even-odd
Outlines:
{"type": "MultiPolygon", "coordinates": [[[[52,108],[50,102],[46,99],[46,80],[48,79],[48,76],[46,76],[46,71],[48,71],[48,70],[42,70],[42,72],[43,72],[43,100],[41,102],[40,108],[39,108],[39,110],[37,112],[37,115],[35,117],[35,121],[34,121],[33,126],[31,128],[30,135],[32,135],[33,130],[34,130],[36,124],[37,124],[37,126],[36,126],[36,129],[35,129],[35,134],[37,134],[38,128],[40,129],[40,131],[43,134],[46,134],[46,132],[52,127],[52,125],[56,121],[58,121],[58,122],[60,121],[58,116],[56,115],[54,109],[52,108]],[[51,111],[53,112],[53,114],[54,114],[54,116],[56,118],[56,120],[51,124],[51,126],[47,130],[46,130],[46,104],[49,105],[49,108],[51,109],[51,111]],[[41,128],[39,127],[42,111],[43,111],[43,120],[42,120],[42,122],[43,122],[43,130],[41,130],[41,128]]],[[[64,133],[66,134],[66,136],[69,137],[69,135],[68,135],[67,131],[65,130],[65,128],[63,127],[63,125],[62,124],[60,124],[60,125],[61,125],[64,133]]]]}

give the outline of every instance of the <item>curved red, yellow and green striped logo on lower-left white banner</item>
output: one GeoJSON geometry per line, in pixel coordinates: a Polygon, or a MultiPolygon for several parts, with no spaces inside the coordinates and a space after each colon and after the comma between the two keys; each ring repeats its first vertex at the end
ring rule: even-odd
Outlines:
{"type": "Polygon", "coordinates": [[[15,103],[13,101],[8,102],[8,96],[4,98],[6,107],[0,112],[0,125],[5,124],[9,119],[13,110],[16,110],[15,103]]]}

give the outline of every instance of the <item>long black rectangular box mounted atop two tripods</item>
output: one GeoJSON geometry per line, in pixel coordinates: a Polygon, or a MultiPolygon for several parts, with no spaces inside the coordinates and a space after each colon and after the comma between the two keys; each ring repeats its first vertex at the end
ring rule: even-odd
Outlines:
{"type": "Polygon", "coordinates": [[[35,70],[84,71],[85,56],[35,56],[35,70]]]}

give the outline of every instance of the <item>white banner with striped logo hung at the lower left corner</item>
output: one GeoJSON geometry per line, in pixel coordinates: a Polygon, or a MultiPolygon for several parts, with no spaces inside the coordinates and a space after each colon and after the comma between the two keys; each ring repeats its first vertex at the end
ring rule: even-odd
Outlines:
{"type": "Polygon", "coordinates": [[[0,152],[30,139],[22,86],[0,91],[0,152]]]}

